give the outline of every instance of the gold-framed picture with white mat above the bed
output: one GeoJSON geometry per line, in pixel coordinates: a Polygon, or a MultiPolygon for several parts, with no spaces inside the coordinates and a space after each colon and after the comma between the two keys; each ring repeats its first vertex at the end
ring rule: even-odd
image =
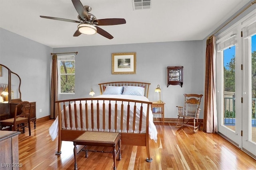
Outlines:
{"type": "Polygon", "coordinates": [[[112,53],[112,74],[136,74],[136,53],[112,53]]]}

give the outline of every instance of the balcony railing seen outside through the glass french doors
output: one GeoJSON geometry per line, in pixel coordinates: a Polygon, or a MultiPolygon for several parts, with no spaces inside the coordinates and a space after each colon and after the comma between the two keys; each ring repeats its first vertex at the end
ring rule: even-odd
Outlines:
{"type": "MultiPolygon", "coordinates": [[[[252,98],[252,127],[256,127],[256,98],[252,98]]],[[[224,98],[224,125],[236,124],[235,98],[224,98]]]]}

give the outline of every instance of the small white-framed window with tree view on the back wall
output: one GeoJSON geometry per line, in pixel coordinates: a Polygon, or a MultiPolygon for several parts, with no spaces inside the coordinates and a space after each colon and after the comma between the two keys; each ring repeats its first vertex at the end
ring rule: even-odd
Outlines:
{"type": "Polygon", "coordinates": [[[58,93],[75,93],[75,56],[58,56],[58,93]]]}

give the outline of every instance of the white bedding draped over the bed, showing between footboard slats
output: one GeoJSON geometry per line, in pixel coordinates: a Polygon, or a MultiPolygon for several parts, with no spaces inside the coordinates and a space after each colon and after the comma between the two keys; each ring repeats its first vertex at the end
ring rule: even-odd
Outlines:
{"type": "MultiPolygon", "coordinates": [[[[119,99],[140,100],[140,101],[149,102],[148,98],[146,98],[144,96],[133,96],[133,95],[100,95],[100,96],[96,96],[94,98],[119,98],[119,99]]],[[[87,101],[87,103],[88,102],[90,102],[90,101],[87,101]]],[[[96,102],[96,101],[94,101],[94,102],[96,102]]],[[[90,104],[90,103],[88,103],[88,104],[90,104]]],[[[112,104],[112,105],[113,105],[113,107],[111,109],[112,109],[112,113],[114,113],[114,104],[112,104]]],[[[79,107],[79,104],[77,104],[77,107],[79,107]]],[[[138,108],[140,108],[140,105],[137,107],[137,109],[138,108]]],[[[146,106],[144,106],[143,108],[145,109],[145,110],[143,109],[143,117],[146,119],[146,106]]],[[[106,108],[106,112],[107,112],[107,109],[108,108],[106,108]]],[[[125,109],[127,110],[127,108],[124,107],[124,110],[125,109]]],[[[68,111],[68,109],[67,109],[67,111],[68,111]]],[[[132,106],[130,108],[130,112],[133,112],[133,107],[132,106]]],[[[96,110],[94,111],[94,113],[96,113],[96,110]]],[[[90,114],[88,114],[88,115],[90,116],[90,114]]],[[[139,118],[139,115],[136,116],[136,120],[137,120],[137,118],[139,118]]],[[[133,114],[130,113],[130,120],[132,120],[132,119],[133,119],[133,114]]],[[[80,120],[80,115],[78,115],[78,120],[80,120]]],[[[96,122],[96,116],[94,117],[94,120],[95,120],[94,122],[96,122]]],[[[73,121],[72,124],[74,125],[75,124],[74,118],[72,119],[72,121],[73,121]]],[[[114,124],[114,120],[112,120],[111,122],[114,124]]],[[[126,129],[126,117],[125,116],[124,116],[124,121],[123,122],[124,122],[123,129],[126,129]]],[[[74,129],[74,130],[76,130],[74,127],[70,128],[70,126],[69,126],[69,117],[67,117],[67,124],[68,124],[68,127],[66,128],[66,127],[62,126],[62,129],[74,129]]],[[[62,116],[62,125],[64,125],[64,116],[62,116]]],[[[80,123],[78,123],[78,125],[80,125],[80,123]]],[[[120,124],[118,124],[118,125],[119,125],[119,128],[120,128],[120,124]]],[[[148,130],[149,130],[150,139],[153,139],[154,141],[156,141],[157,140],[157,131],[156,131],[156,126],[153,123],[153,115],[152,115],[151,109],[149,110],[149,125],[148,126],[149,126],[148,130]]],[[[90,127],[90,125],[89,125],[89,127],[90,127]]],[[[106,121],[106,127],[108,127],[108,122],[107,121],[106,121]]],[[[144,121],[142,123],[142,131],[141,131],[141,133],[145,133],[146,132],[145,127],[146,127],[146,123],[144,121]]],[[[95,128],[94,128],[94,130],[96,130],[95,128]]],[[[131,128],[128,130],[128,132],[133,132],[131,128]]],[[[83,127],[78,127],[77,129],[78,130],[81,130],[81,129],[82,130],[86,130],[85,123],[84,123],[83,127]]],[[[88,130],[91,130],[91,129],[89,128],[88,130]]],[[[102,130],[102,125],[101,125],[99,131],[103,131],[102,130]]],[[[111,129],[110,131],[114,131],[114,129],[111,129]]],[[[124,130],[122,132],[124,132],[124,130]]],[[[135,132],[138,132],[138,127],[136,127],[135,132]]],[[[50,136],[52,138],[52,141],[54,141],[54,139],[58,136],[58,117],[56,118],[54,123],[52,123],[52,125],[50,126],[49,133],[50,133],[50,136]]]]}

